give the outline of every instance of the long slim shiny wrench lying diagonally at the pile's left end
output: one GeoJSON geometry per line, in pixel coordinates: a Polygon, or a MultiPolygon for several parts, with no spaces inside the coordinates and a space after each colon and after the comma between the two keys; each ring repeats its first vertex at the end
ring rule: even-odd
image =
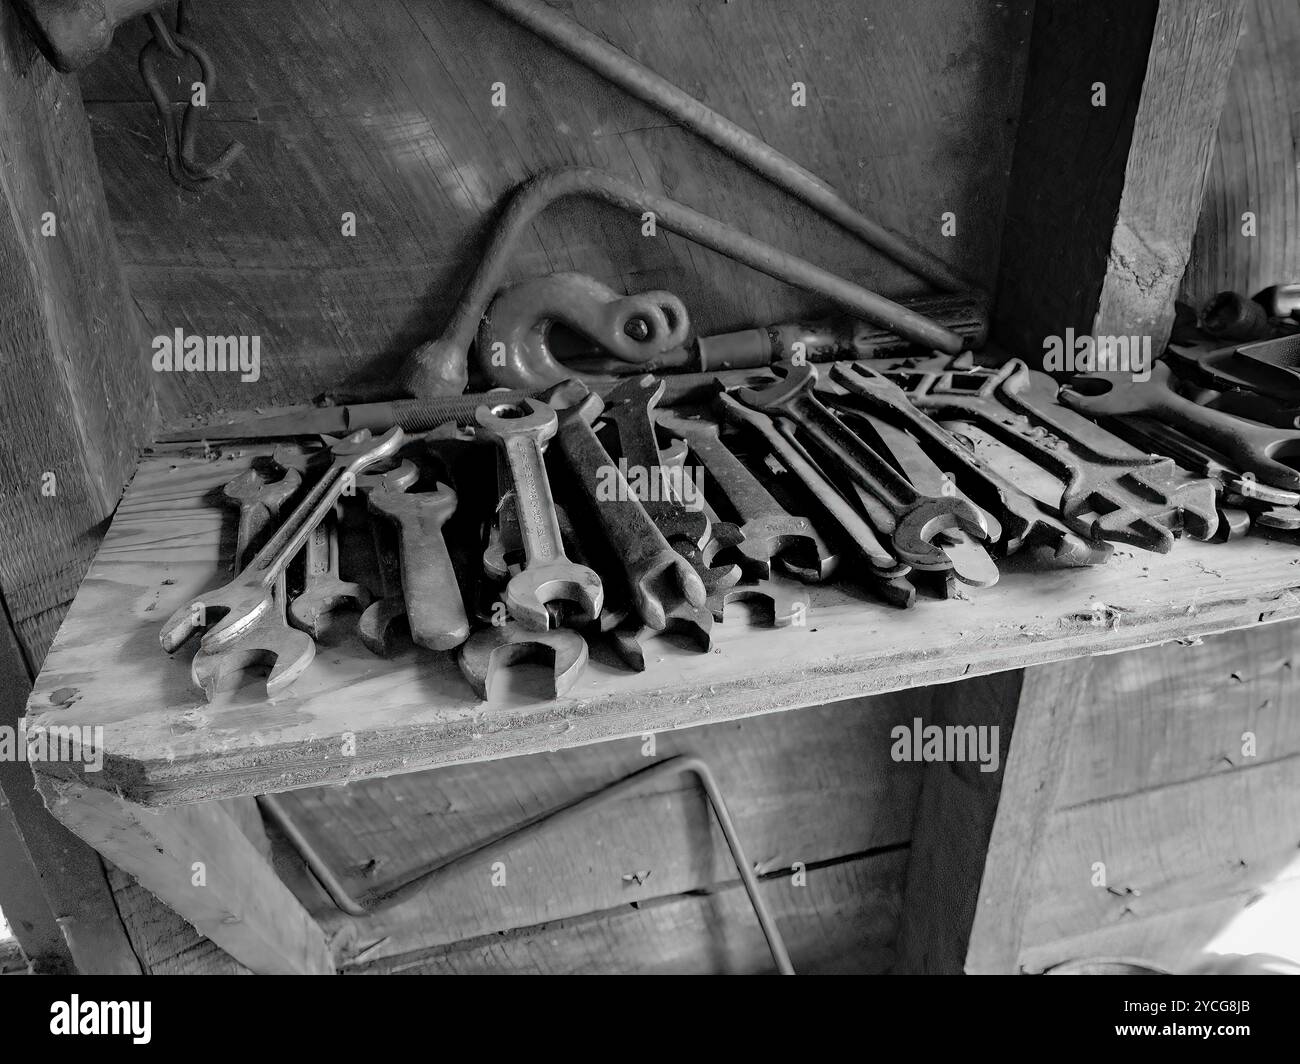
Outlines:
{"type": "Polygon", "coordinates": [[[393,428],[378,438],[350,438],[334,445],[334,460],[316,481],[307,497],[276,529],[266,544],[239,574],[220,588],[204,592],[186,602],[168,618],[159,635],[166,652],[176,650],[186,639],[224,614],[203,636],[205,649],[229,644],[270,609],[270,593],[290,561],[307,542],[307,537],[334,509],[352,477],[382,462],[402,446],[402,429],[393,428]]]}

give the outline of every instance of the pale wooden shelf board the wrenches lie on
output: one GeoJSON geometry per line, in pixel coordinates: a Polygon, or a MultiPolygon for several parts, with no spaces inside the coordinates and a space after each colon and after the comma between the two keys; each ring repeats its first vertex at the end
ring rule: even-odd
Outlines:
{"type": "Polygon", "coordinates": [[[91,786],[168,805],[342,783],[1300,617],[1294,544],[1179,542],[1162,557],[1121,550],[1086,571],[1009,565],[994,588],[922,601],[907,614],[852,585],[816,588],[802,630],[728,620],[710,654],[659,640],[646,672],[593,661],[554,702],[482,704],[448,654],[411,649],[380,661],[347,641],[322,648],[274,702],[248,683],[208,704],[190,683],[192,650],[169,658],[157,631],[173,609],[225,579],[233,515],[205,499],[242,460],[146,459],[56,640],[29,713],[32,725],[104,726],[107,760],[103,773],[86,775],[91,786]]]}

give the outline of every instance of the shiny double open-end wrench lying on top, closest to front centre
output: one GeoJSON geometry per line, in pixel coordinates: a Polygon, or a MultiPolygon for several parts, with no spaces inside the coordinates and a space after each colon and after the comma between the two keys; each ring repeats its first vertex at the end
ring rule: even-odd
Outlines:
{"type": "Polygon", "coordinates": [[[588,566],[569,561],[542,449],[555,436],[555,411],[537,399],[525,399],[523,410],[486,406],[474,412],[478,429],[495,441],[506,455],[515,512],[524,540],[524,568],[506,584],[506,607],[525,628],[546,631],[551,626],[551,604],[567,604],[567,618],[575,627],[595,619],[604,601],[601,578],[588,566]],[[517,416],[508,416],[515,414],[517,416]]]}

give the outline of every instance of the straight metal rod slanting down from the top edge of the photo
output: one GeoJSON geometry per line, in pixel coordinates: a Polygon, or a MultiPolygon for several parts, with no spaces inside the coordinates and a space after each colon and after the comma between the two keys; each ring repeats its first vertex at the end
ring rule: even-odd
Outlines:
{"type": "Polygon", "coordinates": [[[532,30],[606,81],[675,118],[876,251],[930,281],[935,287],[945,291],[970,287],[941,259],[914,247],[898,234],[862,215],[815,173],[803,169],[766,140],[719,114],[547,4],[538,0],[484,0],[484,3],[532,30]]]}

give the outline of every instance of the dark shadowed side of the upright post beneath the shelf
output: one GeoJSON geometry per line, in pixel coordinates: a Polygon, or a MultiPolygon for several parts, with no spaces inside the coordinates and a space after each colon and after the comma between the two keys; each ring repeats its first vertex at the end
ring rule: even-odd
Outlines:
{"type": "Polygon", "coordinates": [[[997,728],[1000,758],[996,771],[970,762],[926,765],[898,926],[900,973],[962,970],[998,793],[1024,771],[1008,758],[1022,757],[1019,752],[1036,741],[1034,714],[1026,722],[1028,736],[1020,735],[1017,718],[1017,701],[1024,704],[1022,683],[1036,671],[1030,670],[1023,679],[1019,672],[1000,672],[935,692],[933,712],[924,725],[997,728]]]}

